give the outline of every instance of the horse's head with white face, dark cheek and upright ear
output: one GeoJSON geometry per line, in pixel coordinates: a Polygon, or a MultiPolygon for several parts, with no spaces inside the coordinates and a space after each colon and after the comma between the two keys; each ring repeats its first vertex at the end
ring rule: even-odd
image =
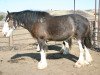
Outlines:
{"type": "Polygon", "coordinates": [[[7,16],[5,18],[5,22],[2,28],[2,33],[6,37],[10,37],[13,30],[16,28],[16,21],[14,21],[13,15],[13,13],[7,11],[7,16]]]}

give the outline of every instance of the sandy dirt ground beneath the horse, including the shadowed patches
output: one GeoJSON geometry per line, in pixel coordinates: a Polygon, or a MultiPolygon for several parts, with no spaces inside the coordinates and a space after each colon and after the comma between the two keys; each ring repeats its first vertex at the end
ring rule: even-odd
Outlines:
{"type": "Polygon", "coordinates": [[[100,75],[100,52],[90,50],[94,61],[88,66],[75,68],[78,46],[74,44],[68,55],[59,53],[60,46],[49,45],[48,67],[43,70],[37,69],[40,54],[36,47],[32,50],[0,51],[0,75],[100,75]]]}

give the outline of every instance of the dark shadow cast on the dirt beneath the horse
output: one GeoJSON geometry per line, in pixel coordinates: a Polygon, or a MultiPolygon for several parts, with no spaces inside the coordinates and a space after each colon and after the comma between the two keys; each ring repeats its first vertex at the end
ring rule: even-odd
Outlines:
{"type": "MultiPolygon", "coordinates": [[[[61,54],[59,51],[61,47],[55,46],[55,45],[49,45],[48,46],[49,50],[56,50],[58,53],[47,53],[47,59],[61,59],[61,58],[66,58],[69,59],[73,62],[76,62],[78,60],[78,57],[76,57],[73,54],[61,54]]],[[[21,58],[21,57],[30,57],[32,59],[36,59],[37,61],[40,61],[40,53],[23,53],[23,54],[16,54],[11,57],[11,60],[21,58]]]]}

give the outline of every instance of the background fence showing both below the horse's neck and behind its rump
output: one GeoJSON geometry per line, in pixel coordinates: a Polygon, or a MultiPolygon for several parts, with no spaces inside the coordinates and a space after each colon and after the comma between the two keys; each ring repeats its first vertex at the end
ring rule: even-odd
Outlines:
{"type": "MultiPolygon", "coordinates": [[[[90,26],[91,26],[91,31],[93,33],[92,39],[94,43],[94,47],[98,46],[98,40],[97,37],[100,38],[100,35],[98,36],[98,25],[95,23],[95,21],[90,21],[90,26]],[[95,26],[97,25],[97,26],[95,26]]],[[[2,27],[0,27],[0,50],[12,50],[15,49],[21,49],[21,47],[25,47],[28,45],[33,45],[37,41],[30,35],[30,33],[22,28],[19,27],[17,28],[14,32],[13,35],[9,38],[6,38],[2,35],[2,27]],[[14,48],[15,47],[15,48],[14,48]]]]}

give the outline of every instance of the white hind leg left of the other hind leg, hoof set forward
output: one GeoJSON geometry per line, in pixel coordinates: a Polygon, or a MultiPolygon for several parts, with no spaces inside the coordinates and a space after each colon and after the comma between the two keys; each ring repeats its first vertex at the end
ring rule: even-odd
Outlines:
{"type": "Polygon", "coordinates": [[[78,40],[79,49],[80,49],[80,55],[78,61],[75,63],[75,67],[80,68],[81,66],[84,66],[85,60],[84,60],[84,49],[81,44],[81,40],[78,40]]]}

